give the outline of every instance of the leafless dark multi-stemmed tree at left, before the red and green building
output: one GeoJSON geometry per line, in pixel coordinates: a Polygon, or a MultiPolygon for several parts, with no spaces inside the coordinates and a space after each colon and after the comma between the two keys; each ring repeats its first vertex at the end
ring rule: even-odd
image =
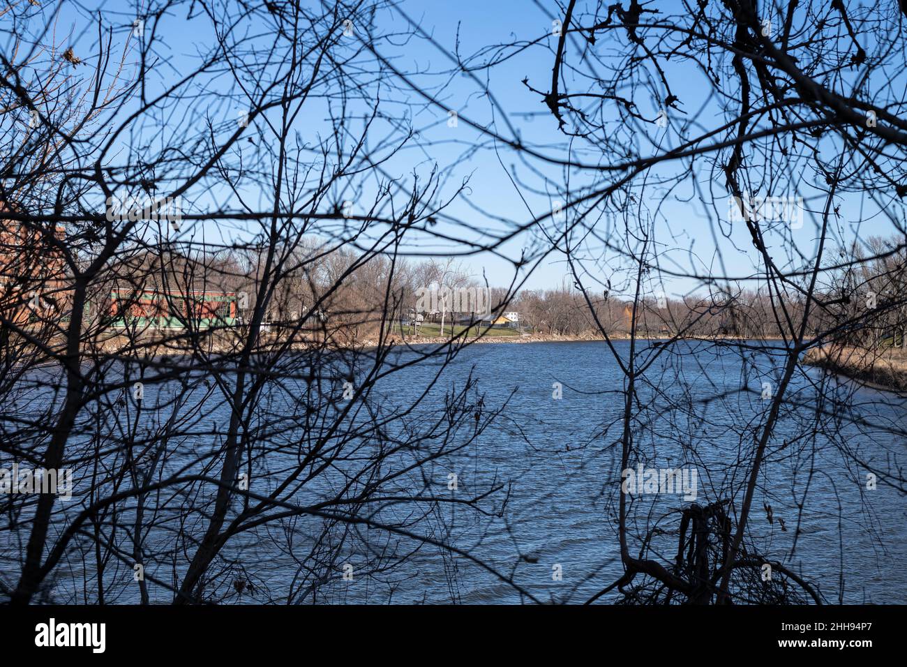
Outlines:
{"type": "Polygon", "coordinates": [[[3,267],[21,284],[0,308],[0,451],[74,479],[69,504],[0,501],[13,603],[301,603],[347,575],[390,599],[419,549],[477,560],[438,510],[500,512],[506,487],[453,495],[444,461],[502,406],[472,380],[429,403],[456,349],[386,341],[401,244],[446,205],[442,172],[392,166],[414,132],[387,123],[407,102],[371,51],[405,36],[375,22],[388,6],[77,12],[64,51],[59,7],[4,10],[3,267]],[[194,57],[161,57],[173,15],[206,36],[194,57]],[[427,358],[409,405],[387,404],[427,358]],[[288,587],[268,584],[273,554],[288,587]]]}

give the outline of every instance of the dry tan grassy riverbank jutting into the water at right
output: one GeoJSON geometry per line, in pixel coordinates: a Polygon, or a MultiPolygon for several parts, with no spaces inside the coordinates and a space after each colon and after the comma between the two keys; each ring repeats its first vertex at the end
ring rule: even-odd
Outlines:
{"type": "Polygon", "coordinates": [[[802,362],[869,387],[907,391],[907,352],[903,348],[867,349],[826,345],[807,350],[802,362]]]}

